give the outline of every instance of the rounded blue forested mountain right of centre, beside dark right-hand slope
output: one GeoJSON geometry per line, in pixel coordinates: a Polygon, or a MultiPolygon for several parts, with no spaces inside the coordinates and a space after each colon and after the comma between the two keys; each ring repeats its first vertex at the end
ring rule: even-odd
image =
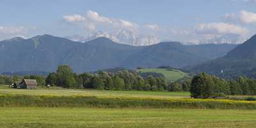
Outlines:
{"type": "Polygon", "coordinates": [[[230,44],[182,45],[178,42],[162,42],[129,56],[122,65],[129,68],[163,65],[182,68],[225,56],[234,47],[230,44]]]}

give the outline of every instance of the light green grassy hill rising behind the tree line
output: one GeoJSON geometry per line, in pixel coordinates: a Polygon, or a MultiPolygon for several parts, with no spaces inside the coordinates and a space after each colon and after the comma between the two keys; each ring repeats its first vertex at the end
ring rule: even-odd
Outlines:
{"type": "Polygon", "coordinates": [[[165,68],[144,68],[144,69],[139,69],[138,72],[156,72],[164,75],[164,78],[166,81],[177,81],[181,79],[184,76],[187,76],[185,72],[182,72],[180,70],[168,70],[165,68]]]}

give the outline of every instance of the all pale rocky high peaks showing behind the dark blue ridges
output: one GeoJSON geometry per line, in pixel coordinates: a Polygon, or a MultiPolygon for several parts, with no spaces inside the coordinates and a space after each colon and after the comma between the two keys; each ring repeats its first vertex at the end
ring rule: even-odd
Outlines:
{"type": "MultiPolygon", "coordinates": [[[[72,35],[65,36],[69,40],[74,42],[88,42],[90,40],[94,40],[99,37],[106,37],[112,40],[113,42],[134,46],[143,46],[143,45],[153,45],[160,42],[159,38],[154,35],[139,35],[138,33],[122,29],[120,31],[114,32],[106,32],[106,31],[97,31],[91,33],[88,36],[81,35],[72,35]]],[[[193,44],[241,44],[248,40],[245,36],[237,35],[237,34],[225,34],[221,36],[210,36],[209,38],[204,38],[199,40],[199,42],[180,42],[181,44],[193,45],[193,44]]],[[[166,42],[166,41],[164,41],[166,42]]]]}

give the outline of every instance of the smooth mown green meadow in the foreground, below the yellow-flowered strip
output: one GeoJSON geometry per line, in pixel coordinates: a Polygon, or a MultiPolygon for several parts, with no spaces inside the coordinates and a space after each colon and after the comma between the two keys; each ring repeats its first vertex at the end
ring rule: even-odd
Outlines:
{"type": "Polygon", "coordinates": [[[255,127],[255,110],[1,108],[0,127],[255,127]]]}

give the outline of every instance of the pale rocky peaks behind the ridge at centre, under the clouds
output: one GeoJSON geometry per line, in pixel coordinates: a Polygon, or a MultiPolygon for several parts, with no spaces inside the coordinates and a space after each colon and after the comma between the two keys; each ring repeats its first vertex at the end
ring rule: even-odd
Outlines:
{"type": "Polygon", "coordinates": [[[73,35],[73,36],[65,36],[64,38],[68,38],[69,40],[75,42],[88,42],[90,40],[94,40],[99,37],[106,37],[112,40],[113,42],[117,42],[120,44],[134,45],[134,46],[143,46],[143,45],[152,45],[159,43],[159,40],[156,36],[150,35],[139,35],[134,31],[129,31],[126,29],[122,29],[120,31],[114,32],[106,32],[106,31],[97,31],[88,35],[88,37],[73,35]]]}

